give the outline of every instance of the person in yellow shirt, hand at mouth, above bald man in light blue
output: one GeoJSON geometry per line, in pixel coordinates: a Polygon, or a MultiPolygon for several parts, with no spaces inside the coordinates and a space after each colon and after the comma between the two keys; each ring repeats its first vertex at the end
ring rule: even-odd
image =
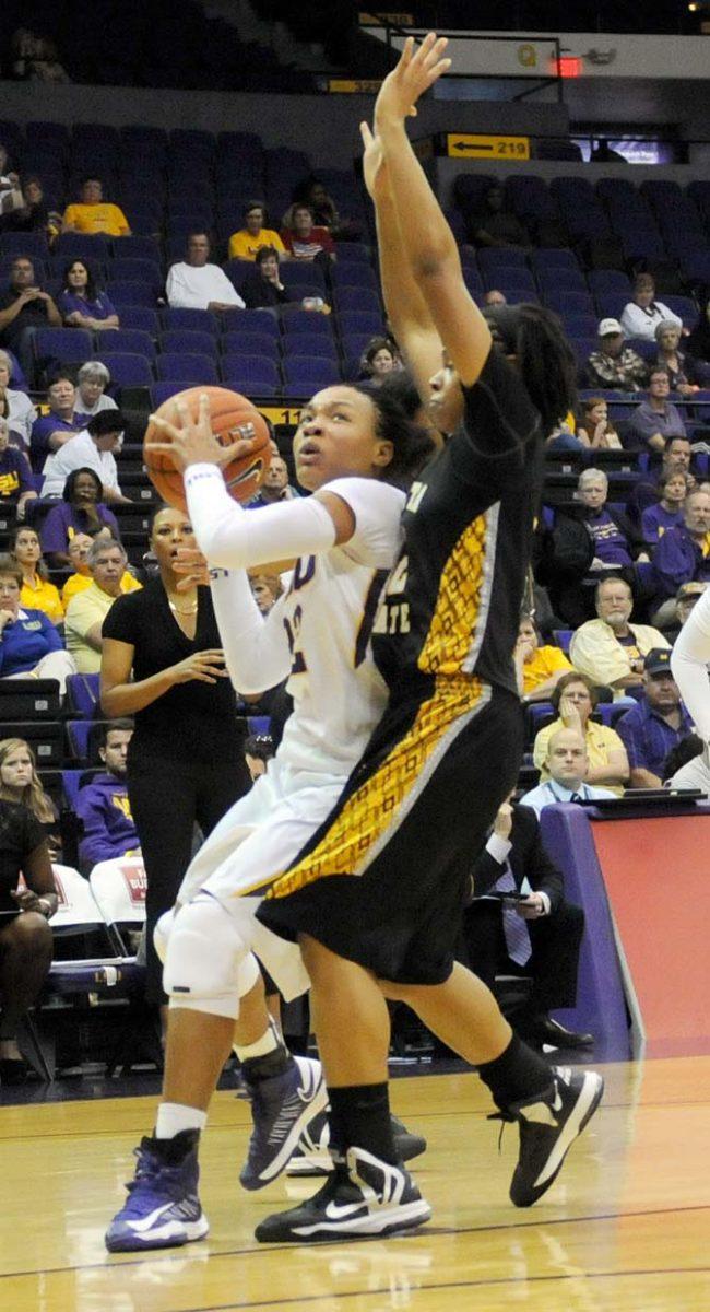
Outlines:
{"type": "Polygon", "coordinates": [[[550,701],[557,711],[557,719],[540,729],[533,743],[533,764],[540,770],[540,782],[549,778],[548,744],[558,729],[574,729],[584,739],[587,748],[587,783],[597,783],[622,792],[629,779],[626,749],[618,733],[607,724],[592,720],[597,705],[597,691],[592,680],[572,669],[563,674],[553,690],[550,701]]]}

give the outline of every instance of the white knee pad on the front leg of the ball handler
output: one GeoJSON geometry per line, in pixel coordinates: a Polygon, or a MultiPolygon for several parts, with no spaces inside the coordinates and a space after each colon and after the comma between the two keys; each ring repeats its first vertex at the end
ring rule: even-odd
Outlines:
{"type": "Polygon", "coordinates": [[[170,1006],[236,1019],[249,956],[229,912],[198,893],[179,909],[168,938],[162,987],[170,1006]]]}

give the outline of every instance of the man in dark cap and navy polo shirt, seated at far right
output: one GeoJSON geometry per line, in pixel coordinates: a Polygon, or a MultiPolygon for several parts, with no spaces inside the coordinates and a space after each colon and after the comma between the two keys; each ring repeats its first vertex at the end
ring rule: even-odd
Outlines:
{"type": "Polygon", "coordinates": [[[631,789],[660,789],[665,757],[690,733],[690,716],[671,673],[671,652],[650,651],[643,661],[643,697],[617,720],[629,757],[631,789]]]}

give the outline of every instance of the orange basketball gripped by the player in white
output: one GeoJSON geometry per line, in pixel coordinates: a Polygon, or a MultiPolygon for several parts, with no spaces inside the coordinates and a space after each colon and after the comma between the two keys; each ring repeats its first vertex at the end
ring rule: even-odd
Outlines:
{"type": "MultiPolygon", "coordinates": [[[[254,408],[248,396],[232,392],[227,387],[189,387],[183,392],[176,392],[155,412],[169,424],[177,421],[176,401],[183,401],[193,420],[198,419],[199,399],[210,398],[210,417],[212,433],[221,446],[231,446],[238,441],[238,429],[244,424],[254,428],[254,450],[241,461],[231,461],[223,467],[224,482],[229,496],[234,501],[250,501],[263,483],[263,476],[269,468],[271,457],[271,434],[269,425],[258,409],[254,408]]],[[[155,424],[148,424],[143,438],[143,461],[148,478],[156,492],[168,505],[174,505],[178,510],[187,510],[185,500],[185,487],[182,474],[176,470],[170,457],[162,451],[148,451],[149,442],[169,442],[169,436],[155,424]]]]}

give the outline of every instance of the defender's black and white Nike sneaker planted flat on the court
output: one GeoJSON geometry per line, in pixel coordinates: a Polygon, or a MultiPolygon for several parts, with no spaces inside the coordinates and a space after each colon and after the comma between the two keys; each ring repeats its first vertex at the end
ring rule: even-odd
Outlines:
{"type": "Polygon", "coordinates": [[[348,1148],[345,1169],[334,1170],[308,1202],[267,1216],[254,1235],[259,1244],[383,1239],[423,1225],[430,1216],[431,1207],[403,1166],[348,1148]]]}

